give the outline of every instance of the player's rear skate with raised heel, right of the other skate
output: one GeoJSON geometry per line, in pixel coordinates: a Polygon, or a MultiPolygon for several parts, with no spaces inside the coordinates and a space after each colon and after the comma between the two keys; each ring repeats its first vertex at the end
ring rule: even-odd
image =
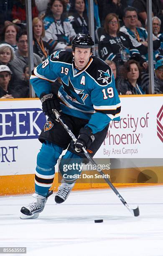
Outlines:
{"type": "Polygon", "coordinates": [[[58,188],[59,190],[55,196],[55,202],[57,204],[61,204],[62,202],[64,202],[67,199],[71,190],[74,187],[74,184],[75,184],[75,182],[72,184],[69,184],[69,183],[65,182],[64,179],[61,180],[61,185],[59,186],[59,188],[58,188]]]}

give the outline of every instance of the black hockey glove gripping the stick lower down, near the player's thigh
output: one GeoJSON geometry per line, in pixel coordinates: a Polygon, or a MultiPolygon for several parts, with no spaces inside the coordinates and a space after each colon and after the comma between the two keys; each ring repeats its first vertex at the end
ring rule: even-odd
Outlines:
{"type": "Polygon", "coordinates": [[[81,128],[79,132],[79,137],[77,141],[74,143],[75,151],[77,153],[82,152],[82,148],[89,148],[91,143],[94,141],[94,135],[90,128],[81,128]]]}

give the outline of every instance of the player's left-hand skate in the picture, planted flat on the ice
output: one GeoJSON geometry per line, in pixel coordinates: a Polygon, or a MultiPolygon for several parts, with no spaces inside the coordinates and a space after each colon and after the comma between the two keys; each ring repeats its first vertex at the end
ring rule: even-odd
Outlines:
{"type": "Polygon", "coordinates": [[[30,203],[27,206],[21,207],[20,218],[21,219],[36,219],[36,218],[38,218],[39,213],[42,212],[45,207],[48,197],[52,194],[53,194],[53,190],[48,191],[48,195],[46,197],[43,197],[36,193],[33,194],[35,201],[30,203]]]}

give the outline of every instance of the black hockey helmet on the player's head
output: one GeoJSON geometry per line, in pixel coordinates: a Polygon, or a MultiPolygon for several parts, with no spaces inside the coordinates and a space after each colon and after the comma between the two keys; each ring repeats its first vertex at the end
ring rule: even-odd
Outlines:
{"type": "Polygon", "coordinates": [[[78,33],[72,40],[73,51],[74,51],[75,47],[91,48],[93,50],[94,41],[92,39],[92,36],[90,36],[89,34],[86,35],[86,34],[78,33]]]}

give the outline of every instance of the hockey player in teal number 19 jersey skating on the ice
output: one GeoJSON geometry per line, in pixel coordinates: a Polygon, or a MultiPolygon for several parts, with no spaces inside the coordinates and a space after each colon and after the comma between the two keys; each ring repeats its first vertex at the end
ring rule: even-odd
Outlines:
{"type": "MultiPolygon", "coordinates": [[[[31,84],[40,97],[43,113],[48,120],[39,140],[43,143],[37,156],[35,175],[35,201],[21,208],[21,218],[37,218],[43,211],[55,174],[54,166],[66,148],[59,170],[63,176],[64,161],[81,163],[84,158],[82,147],[91,156],[97,152],[107,135],[111,120],[120,120],[120,99],[115,89],[114,76],[110,67],[93,56],[94,41],[87,34],[78,33],[72,41],[72,52],[55,51],[34,69],[31,84]],[[58,77],[62,85],[58,97],[51,93],[51,83],[58,77]],[[52,109],[78,138],[76,143],[56,119],[52,109]]],[[[77,169],[69,174],[79,174],[77,169]]],[[[66,200],[76,179],[62,179],[55,196],[56,203],[66,200]]]]}

